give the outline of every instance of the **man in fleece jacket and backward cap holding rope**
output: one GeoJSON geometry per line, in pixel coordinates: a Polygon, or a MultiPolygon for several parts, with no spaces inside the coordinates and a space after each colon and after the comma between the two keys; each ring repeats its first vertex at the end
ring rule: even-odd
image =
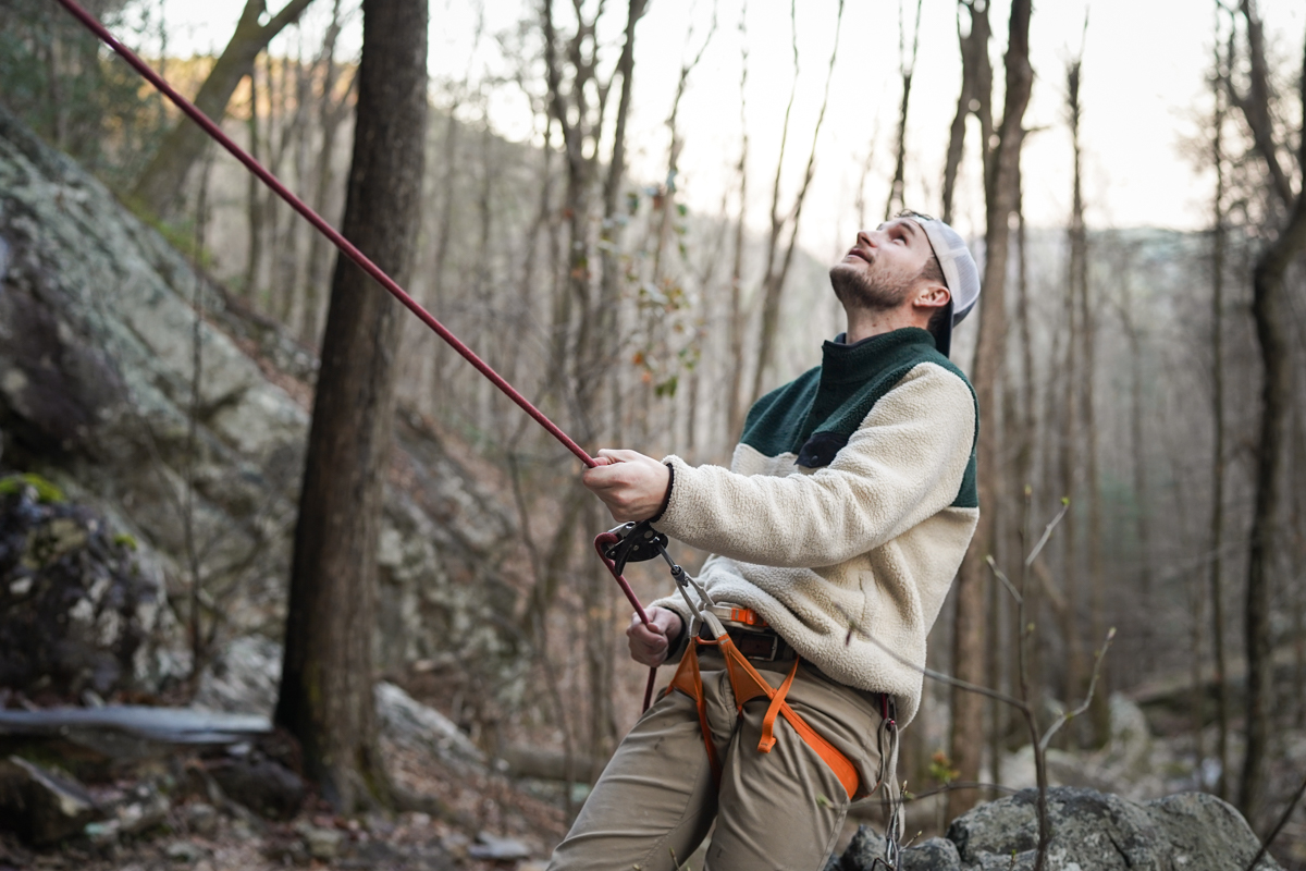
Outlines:
{"type": "Polygon", "coordinates": [[[713,554],[697,602],[632,619],[631,656],[682,657],[594,786],[552,868],[823,867],[848,803],[892,793],[896,731],[978,504],[974,393],[948,362],[980,279],[947,225],[904,213],[829,272],[848,330],[748,413],[731,469],[601,451],[585,484],[618,521],[713,554]],[[747,700],[738,704],[738,700],[747,700]],[[889,746],[884,743],[889,736],[889,746]]]}

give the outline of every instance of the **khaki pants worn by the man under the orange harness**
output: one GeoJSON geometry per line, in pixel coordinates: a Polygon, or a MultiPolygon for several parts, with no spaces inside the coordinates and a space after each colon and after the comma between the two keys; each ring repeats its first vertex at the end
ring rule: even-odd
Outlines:
{"type": "MultiPolygon", "coordinates": [[[[708,723],[721,760],[713,784],[693,700],[673,691],[640,717],[594,785],[550,871],[671,871],[716,832],[703,871],[819,871],[835,849],[849,797],[784,717],[776,746],[757,751],[767,700],[735,714],[725,661],[700,649],[708,723]]],[[[754,662],[778,687],[793,662],[754,662]]],[[[857,767],[861,790],[879,770],[876,697],[835,683],[807,663],[786,696],[857,767]]]]}

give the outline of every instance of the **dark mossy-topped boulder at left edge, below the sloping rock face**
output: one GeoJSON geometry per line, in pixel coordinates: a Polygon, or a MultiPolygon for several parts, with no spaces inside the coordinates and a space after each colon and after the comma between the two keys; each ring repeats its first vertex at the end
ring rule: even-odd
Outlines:
{"type": "Polygon", "coordinates": [[[182,673],[158,567],[85,507],[0,482],[0,687],[106,697],[182,673]]]}

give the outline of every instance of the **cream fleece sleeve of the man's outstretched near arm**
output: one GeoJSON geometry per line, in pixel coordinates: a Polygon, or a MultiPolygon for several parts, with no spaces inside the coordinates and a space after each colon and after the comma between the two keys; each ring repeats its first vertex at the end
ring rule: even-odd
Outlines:
{"type": "Polygon", "coordinates": [[[656,525],[746,563],[836,565],[952,504],[974,426],[969,388],[922,363],[875,404],[835,461],[812,474],[794,466],[782,477],[744,475],[667,457],[675,483],[656,525]]]}

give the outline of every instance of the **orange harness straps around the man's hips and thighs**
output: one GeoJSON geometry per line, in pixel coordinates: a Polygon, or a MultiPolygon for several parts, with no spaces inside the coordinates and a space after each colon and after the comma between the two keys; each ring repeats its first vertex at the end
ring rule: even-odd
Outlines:
{"type": "MultiPolygon", "coordinates": [[[[684,652],[684,657],[680,659],[680,666],[675,670],[675,676],[671,678],[671,683],[667,687],[667,692],[671,689],[679,689],[684,695],[693,699],[699,708],[699,726],[703,729],[703,743],[708,748],[708,761],[712,764],[712,776],[716,778],[717,784],[721,782],[721,763],[717,759],[717,751],[712,744],[712,733],[708,730],[708,713],[707,701],[703,697],[703,676],[699,673],[699,639],[692,639],[690,641],[690,649],[684,652]]],[[[771,704],[767,708],[767,716],[761,721],[761,740],[757,742],[757,750],[763,753],[769,753],[771,748],[776,746],[774,725],[776,717],[784,716],[793,726],[798,736],[807,742],[807,746],[816,751],[816,755],[824,760],[829,769],[835,772],[838,782],[844,785],[844,791],[852,798],[857,794],[858,784],[861,782],[857,774],[857,767],[844,753],[841,753],[833,744],[821,738],[815,729],[807,725],[802,717],[798,716],[789,703],[785,701],[785,696],[789,693],[789,688],[794,683],[794,675],[798,674],[798,659],[794,659],[794,667],[789,670],[789,675],[785,682],[780,684],[778,689],[772,689],[757,670],[752,667],[752,663],[739,653],[739,648],[734,645],[734,641],[729,636],[717,639],[716,641],[701,641],[701,644],[714,644],[720,650],[721,656],[726,659],[726,674],[730,675],[730,686],[735,693],[735,706],[742,713],[743,705],[757,696],[765,696],[771,704]]]]}

